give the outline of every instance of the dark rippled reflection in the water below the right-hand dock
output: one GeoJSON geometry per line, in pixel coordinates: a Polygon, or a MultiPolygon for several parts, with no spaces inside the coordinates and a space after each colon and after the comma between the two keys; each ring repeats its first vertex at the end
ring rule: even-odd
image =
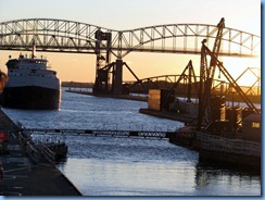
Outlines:
{"type": "Polygon", "coordinates": [[[261,196],[257,171],[205,162],[195,168],[195,196],[261,196]]]}

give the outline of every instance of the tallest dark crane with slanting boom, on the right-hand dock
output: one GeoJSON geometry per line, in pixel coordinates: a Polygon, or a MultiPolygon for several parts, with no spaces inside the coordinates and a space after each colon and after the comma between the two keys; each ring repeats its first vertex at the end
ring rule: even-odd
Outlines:
{"type": "Polygon", "coordinates": [[[215,43],[213,47],[213,51],[211,51],[206,47],[206,39],[202,41],[201,47],[201,68],[200,68],[200,88],[199,88],[199,111],[198,111],[198,121],[197,121],[197,129],[201,129],[203,125],[209,125],[211,123],[211,89],[213,86],[213,78],[215,74],[216,67],[219,72],[226,77],[228,83],[232,88],[235,88],[236,92],[242,98],[245,104],[254,112],[261,113],[258,109],[252,103],[252,101],[248,98],[248,96],[243,92],[241,87],[237,84],[237,80],[232,78],[229,72],[225,68],[223,62],[218,60],[219,48],[222,42],[223,29],[225,27],[225,20],[222,18],[217,25],[218,32],[215,39],[215,43]],[[207,55],[210,55],[210,66],[207,64],[207,55]]]}

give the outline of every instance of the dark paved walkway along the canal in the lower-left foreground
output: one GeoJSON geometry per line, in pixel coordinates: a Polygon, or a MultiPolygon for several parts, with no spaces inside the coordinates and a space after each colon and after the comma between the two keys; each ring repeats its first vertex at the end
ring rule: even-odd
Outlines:
{"type": "Polygon", "coordinates": [[[55,165],[35,163],[21,146],[17,125],[0,110],[0,128],[8,134],[8,153],[1,154],[3,178],[1,196],[81,196],[55,165]]]}

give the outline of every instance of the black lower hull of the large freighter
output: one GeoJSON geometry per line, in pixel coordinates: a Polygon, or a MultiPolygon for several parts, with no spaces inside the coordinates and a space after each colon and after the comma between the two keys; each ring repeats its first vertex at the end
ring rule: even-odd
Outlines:
{"type": "Polygon", "coordinates": [[[39,86],[5,87],[1,95],[4,108],[29,110],[60,109],[61,89],[39,86]]]}

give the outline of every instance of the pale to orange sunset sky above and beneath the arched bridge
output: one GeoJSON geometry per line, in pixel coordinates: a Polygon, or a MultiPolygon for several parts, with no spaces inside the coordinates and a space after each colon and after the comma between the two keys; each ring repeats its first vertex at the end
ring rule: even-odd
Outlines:
{"type": "MultiPolygon", "coordinates": [[[[162,24],[216,25],[225,17],[226,27],[261,36],[258,0],[0,0],[0,22],[33,17],[70,20],[117,30],[162,24]]],[[[20,52],[0,51],[2,71],[7,71],[9,54],[16,58],[20,52]]],[[[61,80],[94,80],[96,55],[37,52],[41,54],[61,80]]],[[[199,71],[199,55],[131,52],[124,58],[139,78],[180,74],[189,60],[199,71]]],[[[260,59],[223,61],[235,77],[248,66],[261,66],[260,59]]],[[[124,79],[134,78],[124,71],[124,79]]]]}

